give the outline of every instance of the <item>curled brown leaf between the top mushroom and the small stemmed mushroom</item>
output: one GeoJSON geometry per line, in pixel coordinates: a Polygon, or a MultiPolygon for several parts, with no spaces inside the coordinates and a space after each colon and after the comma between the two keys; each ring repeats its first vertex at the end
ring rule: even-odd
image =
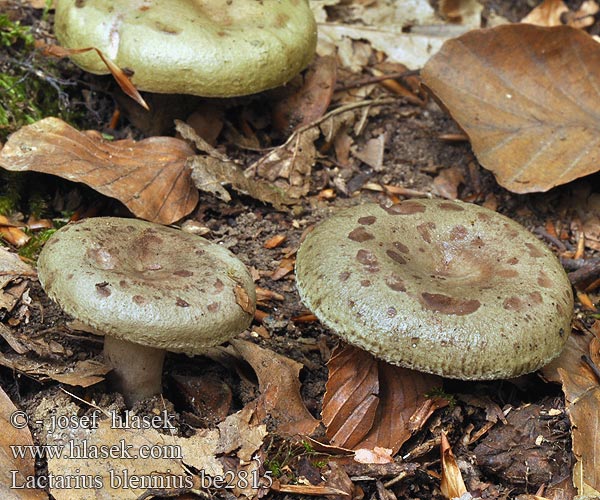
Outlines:
{"type": "Polygon", "coordinates": [[[121,201],[136,216],[171,224],[198,202],[185,160],[191,148],[173,137],[110,142],[45,118],[12,134],[0,151],[0,166],[33,170],[82,182],[121,201]]]}

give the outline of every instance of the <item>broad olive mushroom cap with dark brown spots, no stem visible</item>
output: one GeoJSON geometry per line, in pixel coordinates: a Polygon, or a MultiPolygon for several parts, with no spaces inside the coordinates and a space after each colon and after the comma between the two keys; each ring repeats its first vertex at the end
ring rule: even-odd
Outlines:
{"type": "Polygon", "coordinates": [[[510,378],[556,357],[573,294],[552,252],[477,205],[356,206],[298,250],[302,301],[350,344],[458,379],[510,378]]]}

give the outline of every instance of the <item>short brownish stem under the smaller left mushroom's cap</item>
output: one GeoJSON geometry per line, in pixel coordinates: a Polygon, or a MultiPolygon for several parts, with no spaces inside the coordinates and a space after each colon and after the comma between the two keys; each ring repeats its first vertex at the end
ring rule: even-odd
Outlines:
{"type": "Polygon", "coordinates": [[[104,359],[112,367],[110,382],[127,406],[162,392],[166,351],[111,336],[104,338],[104,359]]]}

